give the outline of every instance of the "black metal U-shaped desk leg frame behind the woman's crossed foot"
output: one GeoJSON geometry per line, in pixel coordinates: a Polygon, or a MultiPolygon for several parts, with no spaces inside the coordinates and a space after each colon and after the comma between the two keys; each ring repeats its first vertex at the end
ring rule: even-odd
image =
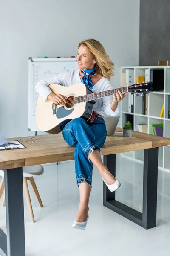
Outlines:
{"type": "MultiPolygon", "coordinates": [[[[104,156],[104,164],[115,176],[116,155],[104,156]]],[[[115,200],[115,192],[110,192],[103,182],[103,205],[123,217],[133,221],[145,229],[156,227],[158,181],[158,148],[144,150],[143,175],[143,211],[135,209],[115,200]]],[[[121,188],[120,188],[121,189],[121,188]]]]}

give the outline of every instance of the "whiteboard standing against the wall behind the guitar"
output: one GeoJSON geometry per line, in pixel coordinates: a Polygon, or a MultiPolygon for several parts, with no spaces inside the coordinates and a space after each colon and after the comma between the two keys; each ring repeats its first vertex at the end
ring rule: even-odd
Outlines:
{"type": "Polygon", "coordinates": [[[55,76],[65,70],[76,70],[76,58],[32,58],[28,60],[28,131],[40,131],[36,125],[36,107],[39,93],[35,85],[40,80],[55,76]]]}

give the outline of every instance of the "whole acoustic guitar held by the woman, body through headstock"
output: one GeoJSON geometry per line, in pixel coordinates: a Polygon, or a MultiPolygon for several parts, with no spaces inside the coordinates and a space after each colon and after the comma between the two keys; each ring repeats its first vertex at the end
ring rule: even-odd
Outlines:
{"type": "Polygon", "coordinates": [[[85,84],[78,83],[69,87],[58,84],[50,84],[49,88],[55,94],[62,94],[67,97],[67,103],[57,105],[51,100],[44,99],[39,96],[36,109],[36,123],[40,130],[49,134],[58,134],[61,132],[60,125],[65,120],[72,120],[82,117],[87,122],[92,114],[93,105],[96,99],[113,95],[120,90],[122,94],[126,92],[144,93],[153,92],[153,82],[148,81],[142,84],[133,84],[127,87],[107,90],[99,93],[93,93],[85,84]]]}

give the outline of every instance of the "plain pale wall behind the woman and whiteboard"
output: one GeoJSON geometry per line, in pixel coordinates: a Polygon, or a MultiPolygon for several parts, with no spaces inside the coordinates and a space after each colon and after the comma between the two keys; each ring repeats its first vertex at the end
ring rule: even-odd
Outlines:
{"type": "MultiPolygon", "coordinates": [[[[139,0],[0,1],[0,131],[28,131],[28,57],[77,55],[78,43],[94,38],[120,66],[139,65],[139,0]]],[[[39,133],[40,134],[40,133],[39,133]]]]}

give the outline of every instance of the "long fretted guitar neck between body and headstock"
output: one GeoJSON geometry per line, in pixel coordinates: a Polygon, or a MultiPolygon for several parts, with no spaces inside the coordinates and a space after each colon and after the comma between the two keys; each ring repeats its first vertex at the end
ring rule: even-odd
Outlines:
{"type": "Polygon", "coordinates": [[[128,92],[128,89],[129,89],[129,87],[126,86],[126,87],[107,90],[107,91],[103,91],[103,92],[99,92],[99,93],[90,93],[90,94],[87,94],[87,95],[75,97],[74,101],[75,101],[75,103],[88,102],[88,101],[91,101],[91,100],[101,99],[101,98],[111,96],[114,93],[118,92],[118,90],[121,91],[122,94],[124,94],[124,93],[128,92]]]}

